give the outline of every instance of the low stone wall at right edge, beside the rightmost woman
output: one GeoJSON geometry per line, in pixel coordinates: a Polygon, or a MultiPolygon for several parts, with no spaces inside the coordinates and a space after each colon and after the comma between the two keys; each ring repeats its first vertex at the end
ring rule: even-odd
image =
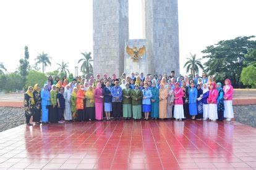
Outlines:
{"type": "Polygon", "coordinates": [[[236,121],[256,127],[256,105],[235,105],[236,121]]]}

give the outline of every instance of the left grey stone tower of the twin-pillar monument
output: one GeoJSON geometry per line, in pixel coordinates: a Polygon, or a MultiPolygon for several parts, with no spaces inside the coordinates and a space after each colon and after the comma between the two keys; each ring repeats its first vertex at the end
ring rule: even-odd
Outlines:
{"type": "Polygon", "coordinates": [[[93,0],[94,74],[122,74],[127,39],[128,0],[93,0]]]}

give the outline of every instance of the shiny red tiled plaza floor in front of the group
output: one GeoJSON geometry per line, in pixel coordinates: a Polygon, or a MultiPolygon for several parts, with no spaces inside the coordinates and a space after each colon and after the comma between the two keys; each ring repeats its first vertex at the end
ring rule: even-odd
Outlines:
{"type": "Polygon", "coordinates": [[[256,129],[234,121],[93,121],[0,133],[1,169],[255,169],[256,129]]]}

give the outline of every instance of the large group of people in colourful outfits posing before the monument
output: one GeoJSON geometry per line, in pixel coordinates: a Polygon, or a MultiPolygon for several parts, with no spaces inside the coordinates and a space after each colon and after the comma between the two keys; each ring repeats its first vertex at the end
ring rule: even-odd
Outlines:
{"type": "Polygon", "coordinates": [[[198,119],[231,121],[233,86],[229,79],[215,83],[213,76],[202,73],[195,78],[171,75],[122,74],[77,76],[53,80],[49,76],[41,89],[28,87],[24,95],[27,125],[111,119],[198,119]]]}

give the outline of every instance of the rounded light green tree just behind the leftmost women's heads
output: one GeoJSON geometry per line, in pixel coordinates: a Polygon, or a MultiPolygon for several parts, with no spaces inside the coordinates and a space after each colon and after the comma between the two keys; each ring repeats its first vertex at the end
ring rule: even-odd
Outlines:
{"type": "Polygon", "coordinates": [[[35,84],[39,84],[40,87],[43,87],[43,85],[45,84],[45,81],[47,80],[47,77],[44,73],[40,73],[35,70],[30,70],[28,72],[26,79],[27,81],[25,84],[25,88],[27,89],[29,86],[34,87],[35,84]]]}

